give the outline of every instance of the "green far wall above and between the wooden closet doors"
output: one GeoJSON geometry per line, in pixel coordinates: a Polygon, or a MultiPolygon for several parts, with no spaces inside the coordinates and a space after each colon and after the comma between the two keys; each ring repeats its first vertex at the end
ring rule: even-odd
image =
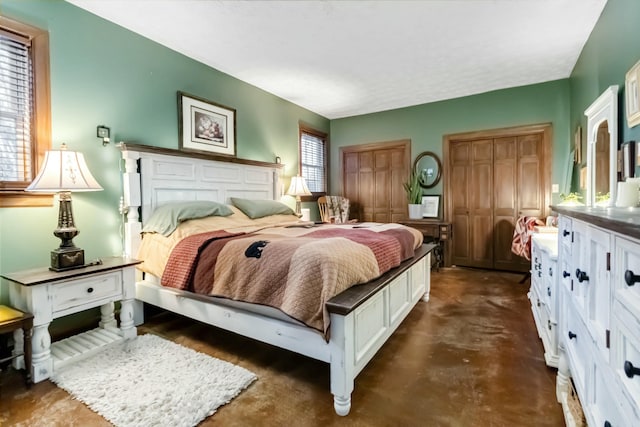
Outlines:
{"type": "MultiPolygon", "coordinates": [[[[339,147],[411,139],[412,159],[422,151],[442,156],[445,135],[503,127],[553,125],[552,182],[564,191],[569,146],[569,82],[558,80],[403,109],[331,121],[332,190],[340,189],[339,147]]],[[[443,177],[443,180],[446,177],[443,177]]],[[[442,182],[425,194],[442,194],[442,182]]]]}

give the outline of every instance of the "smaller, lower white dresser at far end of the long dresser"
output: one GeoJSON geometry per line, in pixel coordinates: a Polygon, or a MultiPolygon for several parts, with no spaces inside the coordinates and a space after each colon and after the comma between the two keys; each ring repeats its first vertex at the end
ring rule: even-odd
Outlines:
{"type": "Polygon", "coordinates": [[[547,365],[558,367],[558,235],[531,236],[531,312],[544,346],[547,365]]]}

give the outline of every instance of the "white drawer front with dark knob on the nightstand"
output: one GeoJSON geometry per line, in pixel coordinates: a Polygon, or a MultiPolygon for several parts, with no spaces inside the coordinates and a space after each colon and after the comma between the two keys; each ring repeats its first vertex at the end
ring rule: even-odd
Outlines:
{"type": "Polygon", "coordinates": [[[105,299],[121,297],[122,273],[113,271],[51,286],[55,287],[55,292],[52,293],[54,313],[79,305],[90,308],[92,302],[100,305],[105,299]]]}

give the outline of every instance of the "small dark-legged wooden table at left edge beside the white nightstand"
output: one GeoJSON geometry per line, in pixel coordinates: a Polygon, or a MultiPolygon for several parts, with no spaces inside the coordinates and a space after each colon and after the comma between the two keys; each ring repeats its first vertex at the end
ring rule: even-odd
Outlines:
{"type": "Polygon", "coordinates": [[[0,363],[14,361],[19,367],[22,362],[27,387],[31,385],[31,332],[33,330],[33,314],[24,313],[15,308],[0,305],[0,334],[13,332],[15,347],[11,356],[0,359],[0,363]]]}

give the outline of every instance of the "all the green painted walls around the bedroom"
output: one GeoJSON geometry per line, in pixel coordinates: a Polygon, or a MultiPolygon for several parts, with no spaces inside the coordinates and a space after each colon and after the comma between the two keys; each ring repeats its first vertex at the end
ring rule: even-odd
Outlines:
{"type": "MultiPolygon", "coordinates": [[[[0,13],[45,28],[51,43],[52,140],[85,153],[105,188],[74,195],[81,233],[75,242],[87,259],[121,252],[119,152],[102,147],[96,126],[112,141],[177,148],[178,90],[237,110],[238,157],[287,165],[296,173],[298,124],[330,131],[330,189],[339,190],[339,148],[410,138],[413,157],[442,153],[444,135],[552,123],[552,182],[568,191],[573,132],[585,126],[585,108],[609,85],[620,92],[621,139],[640,140],[640,126],[624,119],[624,74],[640,59],[640,2],[610,0],[569,79],[505,89],[363,116],[329,120],[62,0],[2,0],[0,13]]],[[[440,194],[442,184],[429,191],[440,194]]],[[[554,202],[557,195],[554,195],[554,202]]],[[[0,272],[48,265],[59,241],[52,235],[57,206],[0,209],[0,272]]],[[[6,301],[0,286],[0,301],[6,301]]]]}

